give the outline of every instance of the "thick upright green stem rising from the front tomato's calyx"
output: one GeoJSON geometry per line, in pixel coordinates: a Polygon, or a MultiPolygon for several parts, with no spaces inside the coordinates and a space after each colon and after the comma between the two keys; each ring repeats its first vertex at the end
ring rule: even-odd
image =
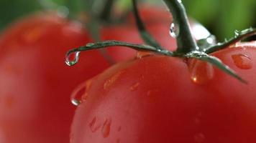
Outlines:
{"type": "Polygon", "coordinates": [[[175,26],[178,26],[178,34],[176,35],[178,49],[177,51],[183,54],[189,51],[195,51],[198,47],[195,39],[191,34],[191,30],[188,24],[188,16],[186,10],[181,3],[181,0],[163,0],[170,9],[173,15],[173,21],[175,26]]]}

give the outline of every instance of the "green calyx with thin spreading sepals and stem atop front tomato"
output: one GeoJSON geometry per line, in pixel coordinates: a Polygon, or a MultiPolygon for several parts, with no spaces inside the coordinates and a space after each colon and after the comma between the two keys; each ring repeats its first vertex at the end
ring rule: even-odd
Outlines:
{"type": "Polygon", "coordinates": [[[214,38],[214,36],[210,36],[207,39],[200,41],[200,44],[196,44],[196,41],[193,39],[191,34],[188,18],[186,16],[185,8],[180,0],[163,0],[165,4],[170,9],[171,13],[173,14],[173,21],[176,26],[178,26],[178,34],[175,36],[178,43],[178,49],[176,51],[168,51],[163,46],[157,43],[157,41],[147,32],[145,29],[142,20],[140,19],[140,15],[137,9],[137,1],[132,0],[134,6],[134,17],[137,21],[137,28],[140,31],[140,35],[142,39],[148,45],[142,44],[130,44],[124,41],[100,41],[96,43],[89,43],[86,46],[81,46],[76,49],[71,49],[67,53],[66,64],[72,66],[78,62],[78,56],[80,51],[87,51],[91,49],[102,49],[109,46],[126,46],[132,49],[136,49],[138,51],[152,51],[157,54],[162,54],[165,56],[176,56],[180,58],[193,58],[198,59],[201,61],[206,61],[217,68],[221,69],[222,71],[226,72],[227,74],[231,75],[232,77],[238,79],[240,82],[247,83],[242,77],[239,77],[235,71],[229,68],[226,64],[221,62],[220,59],[211,56],[209,54],[213,53],[214,51],[219,51],[220,49],[227,48],[236,42],[242,41],[249,36],[256,34],[256,29],[245,29],[243,31],[236,31],[236,35],[234,38],[229,39],[229,41],[224,41],[223,43],[213,45],[213,43],[207,43],[207,39],[214,38]],[[68,57],[71,54],[75,54],[76,58],[73,61],[70,61],[68,57]]]}

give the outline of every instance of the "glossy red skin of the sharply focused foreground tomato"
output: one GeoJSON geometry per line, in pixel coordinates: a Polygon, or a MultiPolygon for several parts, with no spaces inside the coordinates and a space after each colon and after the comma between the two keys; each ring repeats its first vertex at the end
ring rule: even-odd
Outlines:
{"type": "Polygon", "coordinates": [[[168,56],[112,66],[87,87],[86,101],[73,119],[71,142],[254,143],[255,47],[240,45],[213,54],[249,84],[216,68],[209,82],[195,84],[186,62],[168,56]],[[237,67],[235,54],[249,56],[252,67],[237,67]]]}

